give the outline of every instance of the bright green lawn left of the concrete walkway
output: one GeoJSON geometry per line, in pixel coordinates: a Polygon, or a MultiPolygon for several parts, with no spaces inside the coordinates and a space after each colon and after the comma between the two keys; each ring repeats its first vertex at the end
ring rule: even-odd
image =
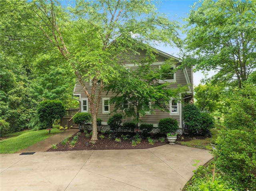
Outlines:
{"type": "Polygon", "coordinates": [[[49,130],[46,129],[38,131],[27,130],[8,134],[5,136],[4,140],[0,141],[0,153],[18,152],[19,150],[34,145],[60,132],[62,131],[57,128],[52,128],[51,134],[49,134],[49,130]]]}

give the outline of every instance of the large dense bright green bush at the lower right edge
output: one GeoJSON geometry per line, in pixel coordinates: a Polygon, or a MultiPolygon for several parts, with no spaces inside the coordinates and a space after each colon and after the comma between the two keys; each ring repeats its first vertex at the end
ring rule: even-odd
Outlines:
{"type": "Polygon", "coordinates": [[[256,186],[256,129],[221,130],[214,156],[216,167],[236,179],[236,185],[254,189],[256,186]]]}

